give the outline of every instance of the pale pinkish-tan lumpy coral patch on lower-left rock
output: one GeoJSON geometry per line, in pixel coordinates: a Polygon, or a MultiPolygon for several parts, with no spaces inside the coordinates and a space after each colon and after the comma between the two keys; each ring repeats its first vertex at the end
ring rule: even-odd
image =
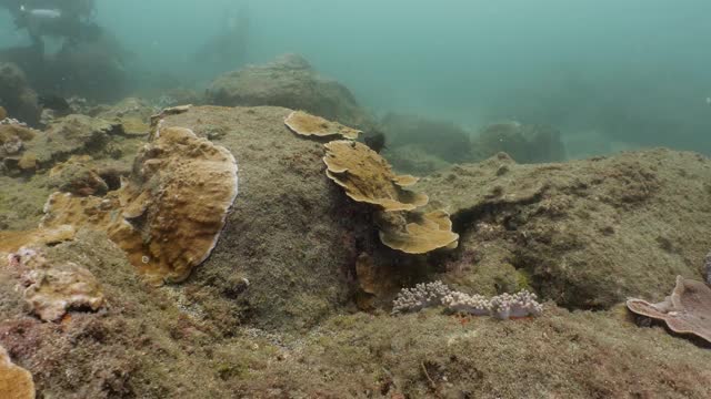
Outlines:
{"type": "Polygon", "coordinates": [[[23,270],[26,303],[44,321],[58,321],[69,309],[97,311],[104,304],[97,278],[74,263],[50,264],[32,249],[11,254],[10,259],[10,267],[23,270]]]}

